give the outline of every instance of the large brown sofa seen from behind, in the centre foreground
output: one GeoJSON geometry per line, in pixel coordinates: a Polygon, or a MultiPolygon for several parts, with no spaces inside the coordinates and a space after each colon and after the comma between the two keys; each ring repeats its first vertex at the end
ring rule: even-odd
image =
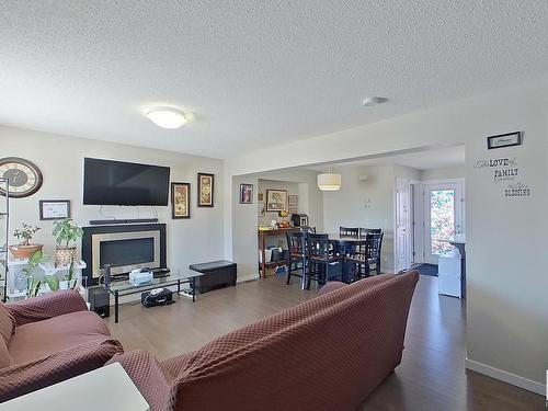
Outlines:
{"type": "MultiPolygon", "coordinates": [[[[115,355],[153,411],[354,410],[401,361],[419,273],[326,285],[320,296],[158,362],[115,355]]],[[[181,330],[184,339],[184,329],[181,330]]]]}

